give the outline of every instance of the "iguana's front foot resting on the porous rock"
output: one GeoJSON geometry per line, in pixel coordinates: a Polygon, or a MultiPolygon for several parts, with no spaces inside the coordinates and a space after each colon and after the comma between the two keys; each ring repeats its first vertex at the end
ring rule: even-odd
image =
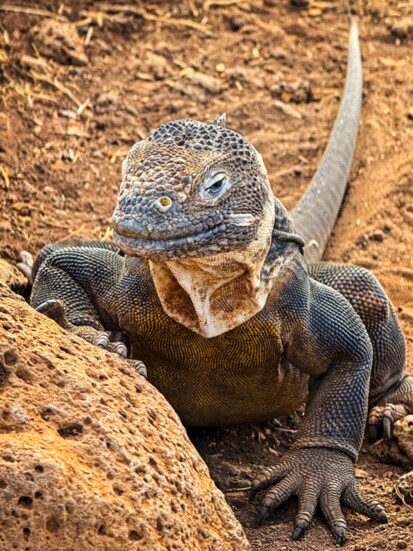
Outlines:
{"type": "MultiPolygon", "coordinates": [[[[108,352],[113,352],[121,358],[127,359],[128,357],[128,348],[126,344],[122,341],[124,338],[123,334],[120,331],[99,331],[94,327],[89,325],[77,326],[71,323],[65,312],[64,303],[61,300],[47,300],[40,304],[36,310],[41,314],[44,314],[48,318],[54,320],[58,325],[82,337],[85,341],[90,344],[94,344],[99,348],[103,348],[108,352]]],[[[143,362],[139,360],[127,360],[128,363],[143,377],[147,377],[146,367],[143,362]]]]}

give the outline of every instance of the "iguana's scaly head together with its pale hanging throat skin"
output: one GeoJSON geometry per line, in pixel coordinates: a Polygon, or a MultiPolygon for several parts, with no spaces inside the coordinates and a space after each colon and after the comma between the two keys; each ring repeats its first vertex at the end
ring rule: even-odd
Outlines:
{"type": "Polygon", "coordinates": [[[261,155],[224,122],[173,121],[135,144],[113,214],[115,241],[149,259],[165,312],[203,337],[259,312],[291,257],[276,244],[269,254],[290,223],[261,155]]]}

